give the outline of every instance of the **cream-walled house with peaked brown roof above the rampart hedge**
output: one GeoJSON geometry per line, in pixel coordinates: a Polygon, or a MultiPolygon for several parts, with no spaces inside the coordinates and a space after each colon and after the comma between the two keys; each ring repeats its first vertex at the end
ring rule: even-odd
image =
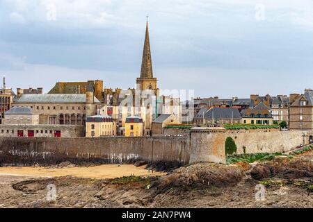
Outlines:
{"type": "Polygon", "coordinates": [[[254,108],[242,110],[241,117],[241,122],[244,124],[273,124],[271,112],[269,112],[268,106],[263,102],[258,103],[254,108]]]}

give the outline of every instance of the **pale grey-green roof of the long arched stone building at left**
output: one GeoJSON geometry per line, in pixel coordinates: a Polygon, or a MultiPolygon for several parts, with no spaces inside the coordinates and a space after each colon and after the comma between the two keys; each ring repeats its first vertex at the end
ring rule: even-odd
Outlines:
{"type": "Polygon", "coordinates": [[[16,103],[86,103],[86,94],[23,94],[16,103]]]}

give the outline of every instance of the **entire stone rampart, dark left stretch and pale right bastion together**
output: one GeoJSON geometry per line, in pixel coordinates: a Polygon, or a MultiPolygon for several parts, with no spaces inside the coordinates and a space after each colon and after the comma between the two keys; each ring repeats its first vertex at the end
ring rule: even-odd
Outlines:
{"type": "Polygon", "coordinates": [[[309,144],[312,131],[195,130],[185,137],[38,138],[0,137],[1,165],[127,161],[225,163],[225,141],[232,137],[238,153],[276,153],[309,144]]]}

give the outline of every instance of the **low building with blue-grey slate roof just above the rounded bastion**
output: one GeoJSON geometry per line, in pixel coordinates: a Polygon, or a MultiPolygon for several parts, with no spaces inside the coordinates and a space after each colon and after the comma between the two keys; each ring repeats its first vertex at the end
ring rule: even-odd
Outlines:
{"type": "Polygon", "coordinates": [[[241,115],[236,108],[203,108],[195,116],[195,124],[218,126],[240,123],[241,115]]]}

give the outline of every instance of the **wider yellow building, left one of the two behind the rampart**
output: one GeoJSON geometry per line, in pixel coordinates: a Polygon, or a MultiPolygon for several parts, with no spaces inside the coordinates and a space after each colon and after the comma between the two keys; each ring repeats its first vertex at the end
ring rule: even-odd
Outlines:
{"type": "Polygon", "coordinates": [[[112,137],[116,135],[116,124],[112,117],[93,116],[86,119],[86,137],[112,137]]]}

